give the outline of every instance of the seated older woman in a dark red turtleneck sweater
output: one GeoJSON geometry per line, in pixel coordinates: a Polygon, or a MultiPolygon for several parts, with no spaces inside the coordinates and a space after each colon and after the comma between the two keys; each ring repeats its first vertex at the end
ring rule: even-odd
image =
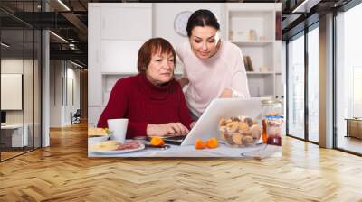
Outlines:
{"type": "Polygon", "coordinates": [[[168,41],[146,41],[138,50],[138,75],[117,81],[98,127],[107,127],[108,119],[128,118],[127,138],[188,133],[191,118],[174,79],[175,63],[176,53],[168,41]]]}

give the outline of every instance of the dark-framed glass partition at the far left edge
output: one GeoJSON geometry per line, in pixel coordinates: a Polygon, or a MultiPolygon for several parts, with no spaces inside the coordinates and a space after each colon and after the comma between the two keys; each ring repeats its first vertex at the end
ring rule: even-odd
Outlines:
{"type": "MultiPolygon", "coordinates": [[[[40,1],[16,4],[1,1],[0,6],[13,5],[10,7],[14,12],[21,14],[39,12],[40,4],[40,1]]],[[[5,161],[41,146],[42,35],[40,30],[4,11],[0,11],[0,23],[0,100],[7,104],[1,107],[5,119],[0,130],[0,161],[5,161]],[[9,94],[16,98],[6,96],[9,94]]]]}

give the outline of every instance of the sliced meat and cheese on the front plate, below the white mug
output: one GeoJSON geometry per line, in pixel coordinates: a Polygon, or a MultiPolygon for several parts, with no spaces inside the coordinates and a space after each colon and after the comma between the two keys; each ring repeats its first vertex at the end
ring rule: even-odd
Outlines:
{"type": "Polygon", "coordinates": [[[141,143],[137,141],[129,141],[120,143],[116,141],[100,142],[90,146],[90,151],[121,151],[137,149],[141,146],[141,143]]]}

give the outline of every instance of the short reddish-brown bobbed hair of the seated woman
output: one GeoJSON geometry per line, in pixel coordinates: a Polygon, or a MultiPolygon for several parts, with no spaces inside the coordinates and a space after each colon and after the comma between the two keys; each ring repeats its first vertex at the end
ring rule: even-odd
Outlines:
{"type": "Polygon", "coordinates": [[[163,38],[152,38],[146,41],[138,50],[137,69],[139,73],[144,74],[146,72],[152,55],[157,54],[158,51],[160,51],[161,54],[172,53],[172,56],[174,56],[174,65],[176,64],[176,52],[171,43],[163,38]]]}

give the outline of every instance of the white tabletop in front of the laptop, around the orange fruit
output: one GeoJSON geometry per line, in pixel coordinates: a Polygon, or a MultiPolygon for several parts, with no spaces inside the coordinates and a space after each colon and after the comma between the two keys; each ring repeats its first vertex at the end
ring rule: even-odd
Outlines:
{"type": "Polygon", "coordinates": [[[146,148],[138,152],[128,152],[122,154],[99,154],[88,152],[89,157],[268,157],[281,156],[281,147],[258,144],[255,147],[232,148],[225,144],[219,144],[218,148],[196,150],[194,145],[176,146],[171,145],[167,150],[146,148]]]}

